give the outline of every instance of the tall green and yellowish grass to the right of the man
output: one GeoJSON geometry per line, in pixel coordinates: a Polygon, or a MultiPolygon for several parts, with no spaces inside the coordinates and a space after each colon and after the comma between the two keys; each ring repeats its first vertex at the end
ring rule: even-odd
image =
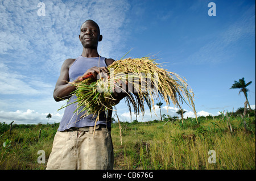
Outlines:
{"type": "Polygon", "coordinates": [[[233,119],[234,132],[222,121],[200,125],[178,122],[122,125],[122,145],[118,127],[113,127],[115,169],[255,169],[255,119],[250,131],[233,119]],[[164,125],[164,126],[163,126],[164,125]],[[126,128],[126,129],[124,129],[126,128]],[[135,131],[136,128],[136,131],[135,131]],[[216,151],[216,163],[208,163],[209,150],[216,151]]]}

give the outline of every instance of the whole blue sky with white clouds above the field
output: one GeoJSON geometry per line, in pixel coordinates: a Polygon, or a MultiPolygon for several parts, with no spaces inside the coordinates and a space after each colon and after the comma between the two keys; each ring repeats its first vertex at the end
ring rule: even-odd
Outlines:
{"type": "MultiPolygon", "coordinates": [[[[100,26],[101,56],[119,60],[132,48],[126,57],[155,55],[164,69],[184,77],[195,94],[197,116],[243,107],[245,96],[229,89],[243,77],[253,82],[247,88],[255,109],[255,1],[1,0],[1,123],[46,124],[48,113],[50,124],[60,122],[65,102],[55,102],[53,90],[64,60],[82,53],[80,26],[87,19],[100,26]]],[[[195,117],[181,106],[184,117],[195,117]]],[[[124,100],[116,108],[119,120],[136,119],[124,100]]],[[[159,120],[155,108],[137,119],[159,120]]],[[[174,106],[163,102],[161,109],[177,116],[174,106]]]]}

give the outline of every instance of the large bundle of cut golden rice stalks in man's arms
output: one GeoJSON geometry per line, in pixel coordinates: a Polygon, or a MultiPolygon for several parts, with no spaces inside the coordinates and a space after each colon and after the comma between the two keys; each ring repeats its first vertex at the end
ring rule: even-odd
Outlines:
{"type": "MultiPolygon", "coordinates": [[[[135,114],[144,115],[144,103],[154,109],[154,100],[162,98],[167,106],[171,103],[179,107],[183,102],[190,104],[196,115],[193,103],[193,91],[183,78],[176,73],[163,69],[151,57],[125,58],[108,66],[109,78],[88,78],[81,82],[72,82],[76,86],[73,92],[77,96],[77,110],[97,115],[112,110],[115,106],[114,91],[127,94],[125,102],[134,109],[135,114]]],[[[119,121],[119,120],[118,120],[119,121]]]]}

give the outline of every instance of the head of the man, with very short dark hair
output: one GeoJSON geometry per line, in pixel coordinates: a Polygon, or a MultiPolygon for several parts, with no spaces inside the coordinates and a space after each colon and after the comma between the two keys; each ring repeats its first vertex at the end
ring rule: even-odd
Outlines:
{"type": "Polygon", "coordinates": [[[102,40],[102,36],[94,22],[87,21],[82,24],[79,40],[84,48],[97,49],[98,41],[102,40]]]}

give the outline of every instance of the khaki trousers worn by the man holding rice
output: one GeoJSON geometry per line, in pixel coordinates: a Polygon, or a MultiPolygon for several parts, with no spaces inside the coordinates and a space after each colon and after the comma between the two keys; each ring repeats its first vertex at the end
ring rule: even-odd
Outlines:
{"type": "Polygon", "coordinates": [[[97,125],[95,132],[93,128],[57,131],[46,169],[113,169],[114,153],[110,131],[106,125],[97,125]]]}

